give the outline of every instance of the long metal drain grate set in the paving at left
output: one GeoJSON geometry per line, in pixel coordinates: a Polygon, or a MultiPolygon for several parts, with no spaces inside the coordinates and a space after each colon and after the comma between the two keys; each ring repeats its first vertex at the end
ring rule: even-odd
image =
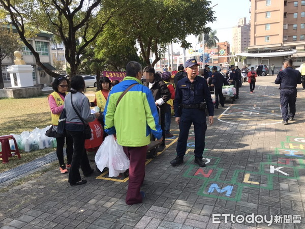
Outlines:
{"type": "Polygon", "coordinates": [[[29,171],[39,168],[45,164],[57,160],[56,152],[49,153],[43,157],[36,158],[34,161],[19,165],[4,173],[0,173],[0,184],[9,181],[13,178],[19,177],[29,171]]]}

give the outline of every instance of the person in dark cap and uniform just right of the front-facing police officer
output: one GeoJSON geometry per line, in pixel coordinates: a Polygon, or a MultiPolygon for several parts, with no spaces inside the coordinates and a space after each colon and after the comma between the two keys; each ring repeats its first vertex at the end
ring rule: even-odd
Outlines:
{"type": "Polygon", "coordinates": [[[219,102],[218,102],[218,98],[219,98],[219,101],[220,101],[220,105],[222,107],[224,107],[225,105],[225,98],[224,98],[224,95],[222,94],[222,87],[223,85],[227,85],[228,82],[227,80],[225,79],[225,77],[217,71],[217,67],[216,66],[213,66],[212,67],[212,84],[211,86],[212,87],[215,87],[215,108],[218,109],[218,105],[219,105],[219,102]]]}

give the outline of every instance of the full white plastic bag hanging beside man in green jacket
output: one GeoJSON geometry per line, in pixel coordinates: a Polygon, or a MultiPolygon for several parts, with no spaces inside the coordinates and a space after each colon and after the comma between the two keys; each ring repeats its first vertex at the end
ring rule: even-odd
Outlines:
{"type": "Polygon", "coordinates": [[[105,137],[95,156],[97,167],[103,171],[109,168],[109,177],[117,177],[129,168],[129,159],[123,151],[123,147],[117,144],[113,134],[105,137]]]}

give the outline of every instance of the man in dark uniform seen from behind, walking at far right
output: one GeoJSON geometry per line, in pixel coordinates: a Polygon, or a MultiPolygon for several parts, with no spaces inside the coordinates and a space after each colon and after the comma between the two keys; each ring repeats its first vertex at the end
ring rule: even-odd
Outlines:
{"type": "Polygon", "coordinates": [[[288,124],[288,119],[293,121],[295,115],[295,102],[296,102],[296,84],[302,82],[301,73],[292,68],[292,60],[284,62],[284,70],[280,71],[275,83],[280,84],[280,101],[281,111],[284,125],[288,124]],[[289,104],[289,113],[288,113],[289,104]]]}

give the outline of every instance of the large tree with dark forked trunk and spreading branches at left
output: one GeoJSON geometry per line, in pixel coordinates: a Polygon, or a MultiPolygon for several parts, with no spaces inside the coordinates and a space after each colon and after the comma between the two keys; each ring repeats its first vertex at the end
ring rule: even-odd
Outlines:
{"type": "Polygon", "coordinates": [[[36,64],[49,75],[57,74],[47,69],[39,58],[39,53],[27,41],[40,30],[55,35],[55,40],[65,45],[65,58],[70,65],[71,76],[77,73],[80,56],[103,32],[108,21],[130,10],[132,1],[125,0],[0,0],[12,20],[17,32],[29,50],[36,64]],[[77,41],[81,40],[80,44],[77,41]]]}

